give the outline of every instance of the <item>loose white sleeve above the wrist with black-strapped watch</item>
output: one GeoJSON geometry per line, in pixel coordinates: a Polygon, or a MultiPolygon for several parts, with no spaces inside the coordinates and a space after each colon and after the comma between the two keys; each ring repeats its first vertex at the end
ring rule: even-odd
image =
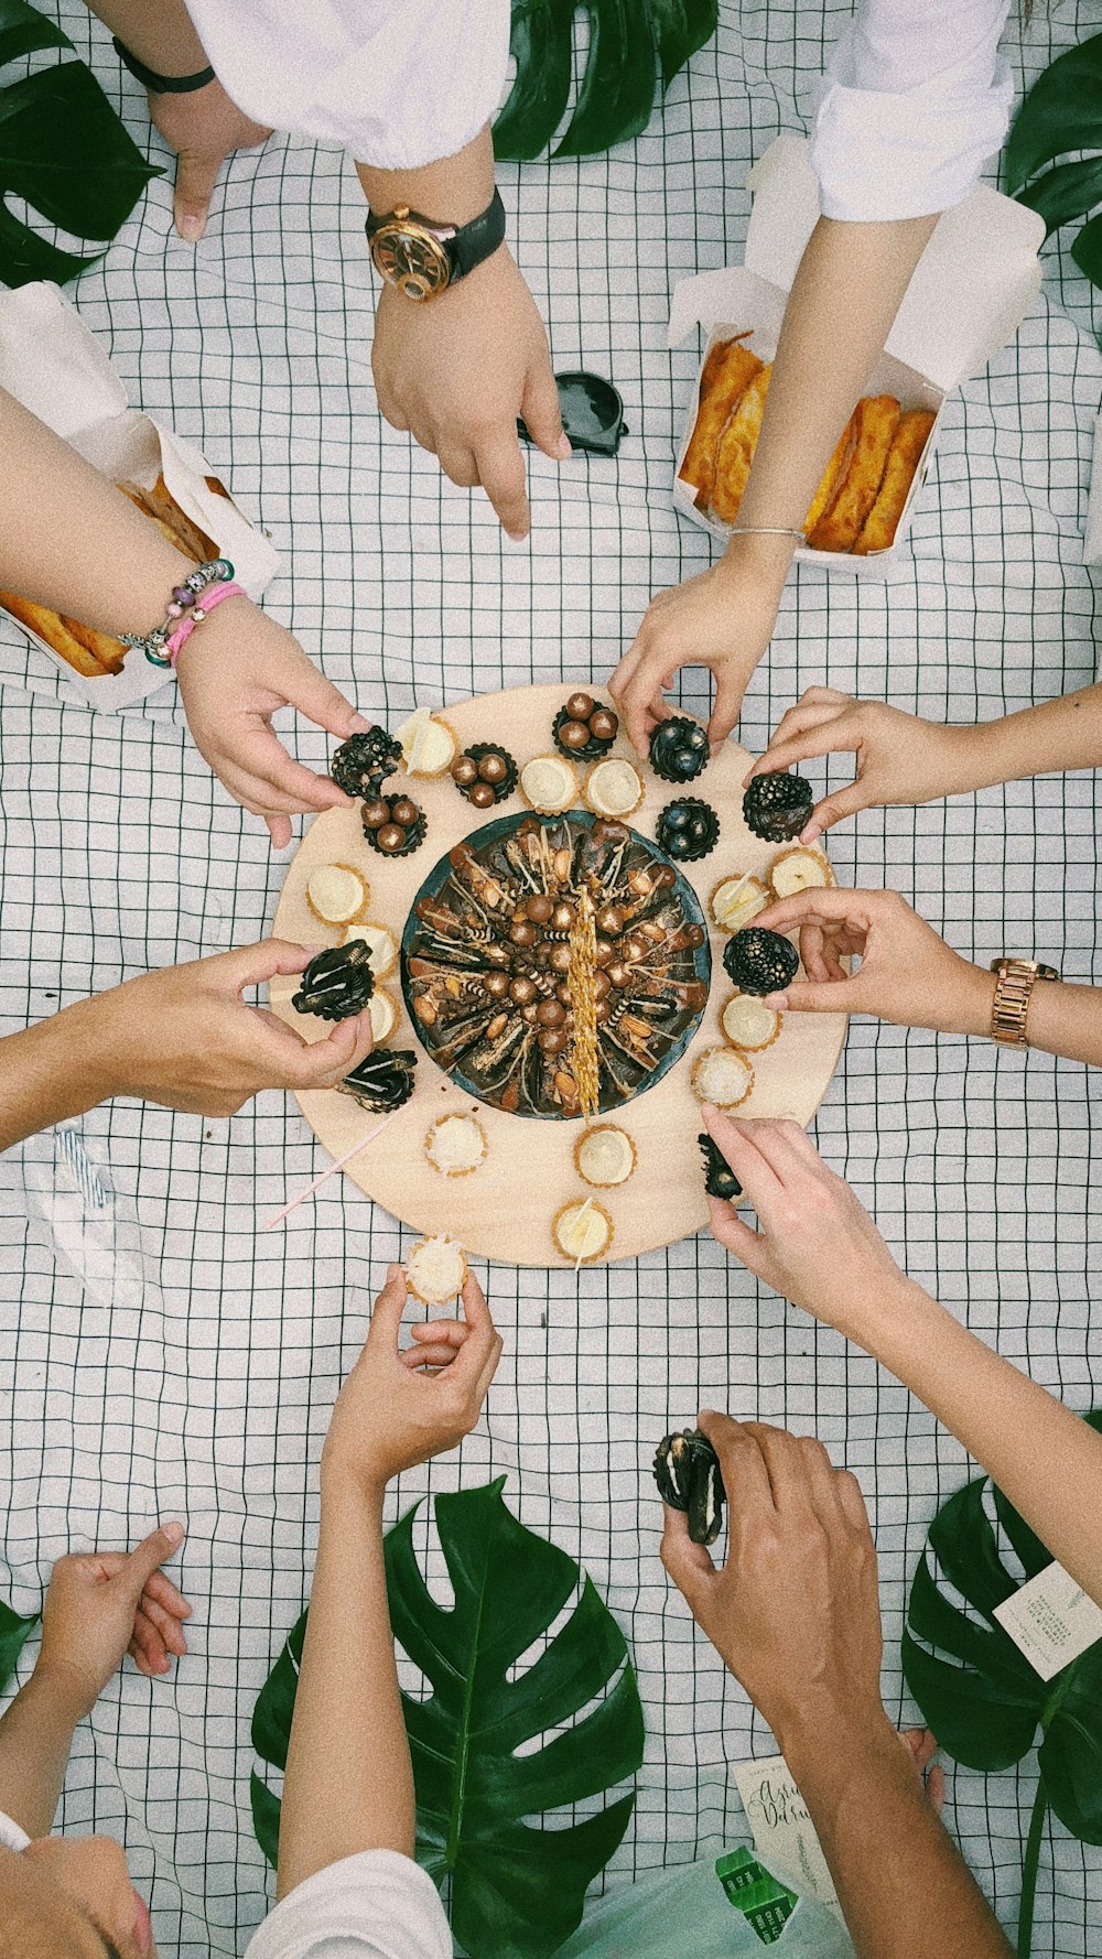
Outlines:
{"type": "Polygon", "coordinates": [[[237,108],[378,170],[455,157],[502,100],[510,0],[188,0],[188,14],[237,108]]]}

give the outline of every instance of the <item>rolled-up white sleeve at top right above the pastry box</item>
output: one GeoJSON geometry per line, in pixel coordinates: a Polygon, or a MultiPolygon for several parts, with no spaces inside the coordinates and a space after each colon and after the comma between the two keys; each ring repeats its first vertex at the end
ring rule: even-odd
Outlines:
{"type": "Polygon", "coordinates": [[[1010,121],[1008,12],[1010,0],[859,0],[812,129],[826,217],[927,217],[969,196],[1010,121]]]}

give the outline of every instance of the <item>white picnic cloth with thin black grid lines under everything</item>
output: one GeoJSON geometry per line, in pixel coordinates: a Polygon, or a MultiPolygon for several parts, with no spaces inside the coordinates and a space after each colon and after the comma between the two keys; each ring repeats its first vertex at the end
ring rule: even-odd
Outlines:
{"type": "MultiPolygon", "coordinates": [[[[273,533],[282,566],[267,605],[365,711],[394,721],[414,701],[604,678],[649,594],[708,562],[708,539],[671,509],[698,358],[694,345],[667,353],[673,282],[741,257],[745,168],[804,127],[847,12],[726,6],[637,143],[502,168],[555,364],[612,374],[633,431],[618,464],[531,458],[526,547],[502,543],[480,498],[378,421],[363,202],[337,151],[276,137],[235,159],[198,251],[171,235],[171,180],[151,184],[80,280],[80,313],[131,400],[198,439],[273,533]]],[[[59,14],[135,139],[167,161],[104,31],[75,0],[59,14]]],[[[1010,41],[1018,74],[1094,25],[1086,4],[1037,8],[1010,41]]],[[[1080,533],[1102,362],[1084,280],[1051,249],[1045,264],[1018,339],[947,407],[890,580],[816,566],[792,578],[747,695],[749,748],[824,676],[959,721],[1094,678],[1080,533]]],[[[702,707],[700,672],[682,680],[684,703],[702,707]]],[[[210,780],[171,688],[90,715],[2,621],[0,682],[4,1028],[265,931],[282,862],[210,780]]],[[[324,764],[318,731],[298,725],[294,746],[324,764]]],[[[965,954],[1035,950],[1098,981],[1096,836],[1096,786],[1080,774],[869,813],[831,850],[843,882],[898,885],[965,954]]],[[[857,1023],[816,1134],[920,1283],[1071,1405],[1102,1399],[1084,1070],[857,1023]]],[[[286,1232],[257,1236],[320,1168],[278,1095],[229,1124],[120,1101],[84,1121],[82,1142],[114,1193],[92,1220],[59,1193],[53,1136],[0,1166],[6,1591],[25,1610],[67,1548],[124,1542],[153,1510],[188,1518],[190,1657],[173,1687],[131,1669],[108,1687],[78,1732],[63,1822],[124,1838],[167,1949],[229,1955],[271,1896],[249,1824],[249,1716],[310,1581],[333,1393],[408,1234],[333,1179],[286,1232]]],[[[524,1520],[584,1563],[626,1626],[649,1740],[614,1871],[739,1840],[727,1761],[771,1742],[661,1571],[653,1444],[708,1401],[814,1430],[855,1469],[900,1716],[914,1712],[898,1673],[906,1581],[963,1452],[708,1238],[576,1281],[494,1267],[488,1289],[506,1336],[488,1420],[459,1456],[404,1477],[396,1503],[508,1471],[524,1520]]],[[[949,1822],[1004,1922],[1029,1800],[1029,1773],[949,1775],[949,1822]]],[[[1035,1953],[1094,1949],[1100,1916],[1102,1859],[1053,1828],[1035,1953]]]]}

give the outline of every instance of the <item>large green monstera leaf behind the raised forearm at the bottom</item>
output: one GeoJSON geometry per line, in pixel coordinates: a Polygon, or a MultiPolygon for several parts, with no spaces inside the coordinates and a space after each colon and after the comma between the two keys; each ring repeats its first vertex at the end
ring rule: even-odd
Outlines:
{"type": "MultiPolygon", "coordinates": [[[[437,1885],[451,1879],[451,1926],[473,1959],[547,1959],[580,1924],[586,1887],[618,1847],[635,1798],[624,1794],[582,1822],[557,1818],[551,1828],[522,1818],[584,1802],[633,1775],[643,1759],[643,1710],[624,1634],[588,1577],[567,1622],[514,1677],[580,1571],[518,1524],[502,1485],[498,1477],[435,1499],[451,1608],[435,1602],[414,1555],[420,1505],[386,1536],[386,1587],[394,1636],[433,1689],[426,1700],[402,1696],[418,1861],[437,1885]],[[559,1732],[543,1740],[551,1730],[559,1732]],[[539,1747],[526,1745],[537,1738],[539,1747]]],[[[304,1632],[306,1614],[253,1716],[257,1753],[280,1769],[304,1632]]],[[[255,1773],[253,1824],[275,1863],[278,1800],[255,1773]]]]}

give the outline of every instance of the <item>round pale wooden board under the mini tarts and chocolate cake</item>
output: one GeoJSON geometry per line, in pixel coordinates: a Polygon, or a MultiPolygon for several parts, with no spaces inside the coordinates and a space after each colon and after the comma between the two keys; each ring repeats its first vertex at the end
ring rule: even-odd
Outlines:
{"type": "MultiPolygon", "coordinates": [[[[614,715],[608,695],[594,688],[586,692],[594,701],[594,713],[602,709],[614,715]]],[[[280,938],[310,946],[322,940],[333,946],[363,940],[373,946],[375,980],[382,981],[376,985],[376,993],[390,995],[398,1007],[398,1021],[386,1044],[376,1048],[369,1062],[357,1070],[359,1081],[347,1083],[339,1091],[314,1089],[298,1097],[310,1126],[333,1158],[353,1150],[357,1140],[369,1136],[382,1115],[390,1117],[378,1138],[361,1156],[353,1156],[345,1175],[420,1236],[431,1240],[445,1236],[469,1256],[561,1269],[575,1269],[580,1264],[600,1266],[610,1258],[637,1258],[708,1224],[698,1142],[702,1130],[700,1097],[692,1081],[694,1072],[700,1075],[696,1064],[710,1050],[727,1046],[731,1056],[745,1058],[745,1070],[737,1070],[739,1079],[729,1087],[729,1093],[739,1095],[745,1089],[745,1099],[737,1103],[739,1119],[786,1115],[798,1123],[810,1123],[827,1089],[845,1038],[843,1015],[782,1013],[769,1019],[771,1009],[763,1009],[759,997],[753,1003],[747,997],[743,1009],[731,1011],[737,980],[731,983],[724,970],[724,950],[731,927],[743,927],[753,919],[753,909],[771,901],[773,866],[782,848],[792,850],[792,842],[776,844],[757,838],[743,823],[741,784],[751,766],[745,750],[727,742],[722,754],[710,760],[692,782],[694,797],[706,803],[718,819],[718,842],[706,858],[675,864],[655,842],[659,817],[671,803],[669,782],[655,776],[649,760],[633,754],[622,731],[614,735],[608,758],[629,764],[637,772],[643,801],[626,821],[586,809],[584,786],[604,756],[590,762],[580,754],[588,742],[575,750],[575,756],[580,754],[576,764],[567,762],[557,750],[553,723],[569,699],[571,690],[559,684],[518,688],[449,705],[441,711],[441,727],[447,733],[439,742],[433,727],[420,719],[416,742],[406,741],[408,762],[388,774],[384,788],[386,795],[412,799],[418,805],[418,815],[424,811],[426,827],[420,850],[394,856],[373,850],[363,831],[363,803],[359,801],[327,809],[310,823],[302,836],[273,923],[273,931],[280,938]],[[451,754],[455,760],[478,744],[494,750],[504,748],[510,758],[516,758],[520,770],[516,789],[490,811],[490,817],[484,809],[473,807],[449,776],[447,756],[451,754]],[[424,768],[418,766],[422,756],[424,768]],[[529,776],[526,784],[526,768],[535,756],[555,762],[567,793],[571,782],[575,784],[565,813],[539,813],[531,807],[533,801],[559,801],[559,784],[551,784],[549,776],[547,782],[539,778],[537,784],[529,776]],[[610,999],[614,993],[629,991],[631,999],[653,1013],[626,1009],[618,1017],[618,1027],[627,1015],[637,1025],[629,1028],[631,1038],[626,1054],[614,1044],[608,1048],[616,1056],[612,1070],[598,1040],[612,1009],[592,1028],[588,1009],[582,1013],[582,1062],[590,1054],[586,1048],[588,1032],[584,1032],[590,1028],[594,1038],[590,1058],[598,1083],[598,1099],[588,1123],[580,1113],[573,1113],[575,1105],[569,1093],[563,1097],[563,1089],[559,1089],[557,1099],[555,1068],[551,1072],[543,1068],[545,1046],[555,1048],[557,1042],[541,1048],[539,1034],[533,1032],[533,1028],[567,1032],[567,1044],[559,1048],[559,1054],[549,1056],[551,1062],[561,1060],[571,1050],[575,1027],[567,1023],[573,1017],[573,999],[563,999],[559,993],[559,985],[569,993],[569,962],[563,962],[559,954],[557,966],[551,966],[551,952],[557,946],[569,948],[571,938],[539,938],[541,925],[549,921],[512,917],[514,911],[522,909],[522,903],[527,905],[529,897],[541,895],[551,899],[553,909],[557,903],[578,907],[580,885],[575,884],[573,895],[557,887],[553,891],[512,893],[512,903],[502,907],[500,923],[490,927],[482,919],[480,936],[471,938],[469,968],[463,966],[463,954],[459,962],[455,956],[439,962],[451,966],[447,974],[437,976],[437,993],[441,1003],[447,1001],[449,1011],[461,1001],[471,980],[478,972],[484,976],[486,970],[494,970],[494,962],[502,958],[496,952],[492,960],[486,960],[490,944],[510,948],[506,952],[508,968],[496,966],[506,978],[506,993],[516,980],[527,978],[535,983],[533,999],[527,999],[524,985],[520,987],[524,997],[510,999],[510,1007],[520,1009],[510,1019],[522,1032],[514,1030],[510,1038],[526,1048],[529,1074],[526,1074],[524,1083],[516,1070],[504,1066],[508,1052],[502,1060],[500,1079],[484,1075],[478,1079],[471,1072],[469,1044],[467,1052],[459,1054],[459,1068],[441,1068],[439,1058],[451,1062],[451,1054],[443,1052],[441,1056],[441,1042],[435,1038],[439,1023],[426,1025],[416,1015],[418,999],[431,999],[431,980],[420,968],[414,974],[412,962],[441,950],[435,940],[429,944],[424,938],[426,925],[429,931],[435,927],[418,917],[418,901],[427,897],[429,903],[459,907],[459,895],[449,882],[457,872],[451,860],[453,852],[461,852],[461,864],[473,862],[480,872],[494,876],[492,866],[500,850],[506,842],[516,846],[522,833],[524,838],[531,838],[535,850],[543,850],[539,838],[545,838],[547,848],[551,848],[559,836],[555,848],[571,850],[571,862],[565,866],[569,878],[575,878],[582,862],[588,866],[586,876],[600,878],[594,864],[606,856],[610,838],[618,848],[620,833],[629,838],[624,848],[627,876],[641,872],[645,878],[653,878],[655,868],[669,874],[669,884],[659,884],[655,891],[633,893],[643,897],[643,903],[653,903],[655,909],[647,917],[635,913],[631,919],[624,919],[620,932],[598,932],[596,911],[602,907],[594,903],[594,942],[606,940],[610,944],[610,952],[600,952],[604,960],[600,970],[624,964],[629,981],[627,987],[620,989],[612,987],[610,981],[608,991],[600,989],[602,997],[610,999]],[[324,880],[318,884],[316,874],[326,866],[353,872],[363,884],[363,899],[351,880],[347,880],[347,891],[341,884],[335,893],[324,880]],[[322,905],[308,901],[310,884],[314,897],[322,889],[322,905]],[[724,884],[727,887],[718,905],[724,921],[720,923],[710,901],[724,884]],[[735,885],[739,889],[733,889],[735,885]],[[747,907],[739,903],[743,891],[757,901],[749,909],[749,917],[747,907]],[[357,917],[345,923],[353,901],[357,901],[357,917]],[[665,917],[667,909],[671,917],[665,917]],[[333,923],[322,919],[320,911],[329,913],[333,923]],[[675,911],[676,917],[673,917],[675,911]],[[341,913],[339,921],[335,913],[341,913]],[[731,925],[726,925],[727,917],[731,925]],[[655,960],[653,954],[637,946],[629,948],[626,960],[616,958],[618,950],[627,950],[624,940],[633,938],[633,929],[641,923],[657,925],[661,934],[671,936],[671,944],[663,948],[669,970],[663,966],[663,956],[655,960]],[[510,932],[514,927],[527,925],[537,929],[535,940],[531,942],[527,931],[522,931],[518,946],[510,932]],[[702,932],[700,946],[688,942],[675,946],[676,934],[688,932],[692,927],[702,932]],[[529,944],[526,946],[524,940],[529,944]],[[396,942],[402,944],[402,989],[394,972],[396,942]],[[531,954],[539,944],[547,946],[547,968],[533,962],[533,972],[520,970],[520,964],[514,970],[514,952],[531,954]],[[557,968],[563,964],[567,964],[567,972],[559,974],[557,968]],[[553,987],[543,981],[543,974],[549,972],[557,974],[553,987]],[[657,993],[647,991],[651,983],[657,993]],[[675,1013],[667,1015],[663,987],[667,993],[669,987],[702,987],[706,999],[692,1005],[692,995],[669,993],[675,999],[675,1013]],[[526,1015],[526,1009],[539,1009],[547,1001],[565,1009],[561,1023],[557,1013],[545,1013],[543,1021],[535,1013],[526,1015]],[[551,1021],[557,1025],[549,1027],[551,1021]],[[729,1038],[729,1030],[745,1032],[745,1048],[739,1040],[729,1038]],[[631,1052],[633,1042],[639,1042],[635,1052],[631,1052]],[[539,1074],[535,1074],[535,1054],[541,1058],[539,1074]],[[614,1085],[618,1070],[620,1085],[614,1085]],[[516,1113],[502,1107],[510,1079],[518,1085],[516,1113]],[[527,1113],[520,1113],[522,1093],[535,1101],[527,1113]],[[447,1117],[463,1119],[463,1123],[445,1128],[441,1123],[447,1117]],[[584,1148],[586,1134],[594,1136],[588,1150],[584,1148]]],[[[588,719],[592,731],[592,715],[588,719]]],[[[606,739],[608,723],[598,721],[598,729],[606,739]]],[[[406,731],[402,733],[406,735],[406,731]]],[[[357,754],[361,795],[375,793],[378,799],[376,768],[388,754],[390,750],[384,750],[378,739],[369,752],[357,754]]],[[[626,776],[626,786],[631,795],[637,793],[629,776],[626,776]]],[[[627,801],[629,797],[622,795],[620,799],[627,801]]],[[[529,844],[526,842],[524,848],[529,844]]],[[[822,858],[822,848],[818,856],[822,858]]],[[[826,876],[829,876],[829,866],[826,876]]],[[[463,885],[463,876],[459,882],[463,885]]],[[[594,887],[590,901],[596,895],[594,887]]],[[[482,913],[496,919],[496,907],[478,903],[482,913]]],[[[475,913],[475,905],[467,909],[475,913]]],[[[539,913],[543,905],[537,903],[535,909],[539,913]]],[[[439,923],[445,921],[437,917],[439,923]]],[[[616,921],[606,919],[606,923],[616,921]]],[[[451,936],[445,932],[443,936],[447,946],[455,942],[459,950],[463,932],[451,936]]],[[[578,938],[578,934],[575,936],[578,938]]],[[[647,936],[647,944],[659,946],[659,940],[647,936]]],[[[584,962],[575,968],[575,972],[580,970],[588,970],[584,962]]],[[[273,980],[273,1011],[286,1019],[304,1040],[326,1038],[331,1023],[314,1013],[298,1013],[290,1005],[296,989],[300,989],[300,980],[294,976],[273,980]]],[[[496,981],[494,989],[500,991],[496,981]]],[[[492,995],[484,997],[486,1005],[494,1005],[492,995]]],[[[502,1025],[498,1036],[490,1038],[500,1038],[504,1032],[502,1025]]],[[[461,1034],[461,1028],[455,1028],[455,1034],[461,1034]]],[[[461,1042],[461,1050],[463,1046],[461,1042]]],[[[569,1074],[567,1068],[557,1072],[569,1074]]],[[[702,1074],[704,1081],[712,1079],[716,1062],[702,1074]]],[[[573,1074],[571,1079],[576,1089],[573,1074]]]]}

